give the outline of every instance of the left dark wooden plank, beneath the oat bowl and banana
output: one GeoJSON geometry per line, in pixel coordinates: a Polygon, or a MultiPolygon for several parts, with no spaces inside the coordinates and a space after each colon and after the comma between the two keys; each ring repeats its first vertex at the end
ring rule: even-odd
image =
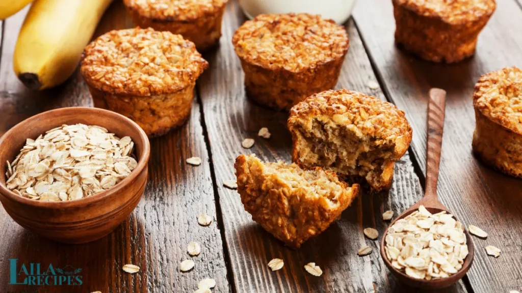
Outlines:
{"type": "MultiPolygon", "coordinates": [[[[6,21],[0,60],[0,133],[49,108],[92,106],[78,72],[63,86],[43,92],[29,91],[17,80],[11,59],[25,13],[23,10],[6,21]]],[[[132,27],[132,22],[118,1],[110,6],[96,34],[125,27],[132,27]]],[[[206,277],[216,279],[216,292],[230,291],[217,222],[201,227],[196,219],[202,212],[216,218],[208,157],[195,101],[186,125],[151,140],[144,198],[131,217],[109,236],[85,245],[60,245],[29,233],[0,208],[0,292],[192,292],[206,277]],[[191,156],[200,156],[204,163],[187,165],[185,158],[191,156]],[[201,254],[193,258],[194,270],[181,273],[180,262],[190,258],[186,252],[189,241],[200,243],[201,254]],[[8,285],[10,258],[19,259],[19,263],[81,267],[84,284],[76,288],[8,285]],[[140,266],[140,272],[124,273],[121,267],[126,263],[140,266]]]]}

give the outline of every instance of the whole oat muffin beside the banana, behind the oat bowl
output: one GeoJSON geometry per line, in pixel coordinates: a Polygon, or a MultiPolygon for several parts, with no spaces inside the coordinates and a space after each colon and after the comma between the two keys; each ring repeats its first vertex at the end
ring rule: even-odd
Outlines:
{"type": "Polygon", "coordinates": [[[90,43],[80,71],[94,106],[133,119],[155,137],[188,118],[196,79],[207,67],[181,35],[136,28],[113,30],[90,43]]]}

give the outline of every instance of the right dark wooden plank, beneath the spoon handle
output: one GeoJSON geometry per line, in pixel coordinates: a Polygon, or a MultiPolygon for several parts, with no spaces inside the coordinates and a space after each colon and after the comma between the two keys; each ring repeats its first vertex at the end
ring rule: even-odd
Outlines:
{"type": "Polygon", "coordinates": [[[522,10],[514,1],[497,1],[495,13],[479,37],[476,55],[454,65],[424,62],[399,50],[394,45],[389,1],[360,1],[354,19],[387,96],[406,111],[412,124],[413,152],[423,172],[428,90],[439,87],[447,91],[439,195],[461,221],[490,235],[487,240],[473,239],[476,258],[468,273],[470,284],[476,292],[520,290],[522,181],[496,173],[472,156],[471,96],[480,75],[522,66],[522,10]],[[488,257],[487,245],[499,247],[501,257],[488,257]]]}

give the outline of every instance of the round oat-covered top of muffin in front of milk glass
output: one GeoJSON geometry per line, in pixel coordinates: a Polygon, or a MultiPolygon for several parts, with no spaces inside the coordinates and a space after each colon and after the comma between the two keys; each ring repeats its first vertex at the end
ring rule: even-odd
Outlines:
{"type": "Polygon", "coordinates": [[[309,14],[266,14],[246,21],[232,38],[248,63],[300,72],[345,56],[348,34],[333,20],[309,14]]]}

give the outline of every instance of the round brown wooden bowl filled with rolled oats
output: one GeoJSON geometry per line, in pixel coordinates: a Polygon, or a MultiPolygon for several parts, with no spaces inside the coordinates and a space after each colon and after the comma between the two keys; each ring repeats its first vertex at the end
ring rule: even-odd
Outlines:
{"type": "Polygon", "coordinates": [[[149,154],[146,133],[125,116],[89,107],[44,112],[0,138],[0,201],[35,234],[90,242],[135,209],[149,154]]]}

